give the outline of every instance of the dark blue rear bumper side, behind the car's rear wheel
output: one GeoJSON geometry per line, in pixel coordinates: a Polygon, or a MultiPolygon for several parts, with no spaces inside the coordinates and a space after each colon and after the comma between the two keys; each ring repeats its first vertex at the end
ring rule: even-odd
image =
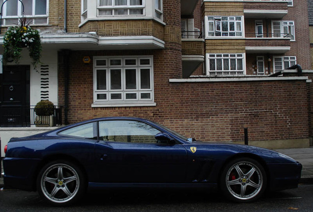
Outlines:
{"type": "Polygon", "coordinates": [[[4,186],[21,190],[36,190],[36,167],[39,162],[40,159],[4,158],[4,186]]]}

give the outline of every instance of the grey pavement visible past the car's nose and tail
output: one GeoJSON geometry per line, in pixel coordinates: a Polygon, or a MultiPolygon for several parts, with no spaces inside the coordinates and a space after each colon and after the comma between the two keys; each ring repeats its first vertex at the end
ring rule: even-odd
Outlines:
{"type": "MultiPolygon", "coordinates": [[[[300,149],[279,149],[275,151],[289,156],[302,164],[303,167],[300,183],[313,182],[313,147],[300,149]]],[[[2,161],[1,171],[3,172],[2,161]]],[[[2,187],[4,187],[3,178],[0,176],[0,189],[2,187]]]]}

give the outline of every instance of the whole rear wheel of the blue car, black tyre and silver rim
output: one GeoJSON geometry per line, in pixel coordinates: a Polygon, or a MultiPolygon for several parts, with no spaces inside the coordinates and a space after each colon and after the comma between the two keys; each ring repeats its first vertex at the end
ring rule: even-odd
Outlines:
{"type": "Polygon", "coordinates": [[[77,202],[85,194],[86,185],[86,179],[80,167],[67,160],[47,163],[37,176],[39,195],[56,206],[77,202]]]}

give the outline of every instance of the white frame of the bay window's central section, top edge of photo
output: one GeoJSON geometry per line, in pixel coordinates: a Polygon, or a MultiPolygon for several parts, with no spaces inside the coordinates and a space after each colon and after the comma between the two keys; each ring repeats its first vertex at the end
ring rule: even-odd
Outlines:
{"type": "Polygon", "coordinates": [[[115,0],[111,0],[112,5],[100,6],[100,1],[97,0],[97,17],[106,17],[106,16],[145,16],[145,0],[142,0],[142,5],[130,5],[130,0],[126,0],[126,5],[115,5],[115,0]],[[127,14],[115,14],[116,10],[127,10],[127,14]],[[132,9],[140,9],[142,10],[142,14],[130,14],[132,9]],[[111,11],[112,14],[109,15],[100,15],[100,10],[108,10],[111,11]]]}

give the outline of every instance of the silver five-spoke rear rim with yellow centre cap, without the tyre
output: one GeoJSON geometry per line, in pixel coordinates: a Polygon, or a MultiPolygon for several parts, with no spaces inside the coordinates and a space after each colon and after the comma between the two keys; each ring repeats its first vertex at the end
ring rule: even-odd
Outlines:
{"type": "Polygon", "coordinates": [[[80,180],[75,169],[67,164],[58,163],[45,170],[40,180],[40,187],[48,200],[65,203],[77,194],[80,180]]]}

